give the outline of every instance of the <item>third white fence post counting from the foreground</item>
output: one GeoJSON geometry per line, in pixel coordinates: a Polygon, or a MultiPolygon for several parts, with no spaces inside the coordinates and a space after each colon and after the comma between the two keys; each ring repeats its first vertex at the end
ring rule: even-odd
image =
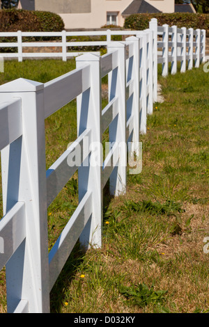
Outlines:
{"type": "Polygon", "coordinates": [[[125,43],[111,42],[107,51],[118,51],[118,67],[109,73],[109,102],[118,97],[118,119],[109,125],[109,142],[120,145],[120,159],[109,177],[109,191],[111,195],[119,196],[126,191],[126,69],[125,43]]]}

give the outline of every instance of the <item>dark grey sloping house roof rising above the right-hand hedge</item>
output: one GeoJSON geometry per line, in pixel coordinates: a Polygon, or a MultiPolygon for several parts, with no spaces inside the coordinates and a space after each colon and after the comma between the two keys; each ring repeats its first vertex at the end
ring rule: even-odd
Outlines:
{"type": "Polygon", "coordinates": [[[151,6],[144,0],[133,0],[125,10],[123,10],[122,15],[132,15],[139,13],[161,13],[160,10],[151,6]]]}

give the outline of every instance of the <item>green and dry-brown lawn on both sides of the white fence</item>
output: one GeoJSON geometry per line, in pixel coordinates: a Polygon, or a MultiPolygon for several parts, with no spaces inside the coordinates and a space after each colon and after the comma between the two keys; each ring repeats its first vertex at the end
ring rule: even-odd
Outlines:
{"type": "MultiPolygon", "coordinates": [[[[6,61],[0,84],[19,77],[45,83],[74,68],[75,61],[6,61]]],[[[209,74],[201,65],[163,78],[160,68],[164,102],[154,104],[147,133],[140,136],[142,171],[127,170],[124,196],[112,198],[108,185],[104,188],[102,248],[84,255],[79,243],[75,246],[52,289],[51,312],[209,310],[209,253],[203,242],[209,237],[209,74]]],[[[49,168],[76,138],[76,100],[45,126],[49,168]]],[[[49,249],[77,198],[75,173],[48,209],[49,249]]],[[[0,312],[6,312],[4,270],[0,312]]]]}

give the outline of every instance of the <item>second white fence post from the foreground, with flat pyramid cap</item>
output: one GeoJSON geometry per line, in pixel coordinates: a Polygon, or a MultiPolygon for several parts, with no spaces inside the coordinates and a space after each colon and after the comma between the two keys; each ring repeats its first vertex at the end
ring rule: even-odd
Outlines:
{"type": "MultiPolygon", "coordinates": [[[[77,97],[77,133],[91,129],[89,161],[78,168],[79,202],[86,191],[92,192],[92,216],[79,240],[85,248],[102,245],[102,135],[101,135],[101,74],[100,56],[84,54],[76,58],[76,65],[90,65],[91,88],[77,97]]],[[[84,81],[85,83],[85,81],[84,81]]],[[[86,81],[87,83],[87,81],[86,81]]]]}

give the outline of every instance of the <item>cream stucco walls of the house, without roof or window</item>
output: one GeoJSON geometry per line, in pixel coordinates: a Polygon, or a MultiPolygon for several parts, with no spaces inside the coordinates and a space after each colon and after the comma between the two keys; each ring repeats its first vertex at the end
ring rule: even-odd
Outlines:
{"type": "MultiPolygon", "coordinates": [[[[146,0],[163,13],[174,13],[174,0],[146,0]]],[[[58,13],[65,29],[98,29],[107,23],[107,12],[118,13],[117,24],[123,26],[123,10],[132,0],[36,0],[36,10],[58,13]]]]}

